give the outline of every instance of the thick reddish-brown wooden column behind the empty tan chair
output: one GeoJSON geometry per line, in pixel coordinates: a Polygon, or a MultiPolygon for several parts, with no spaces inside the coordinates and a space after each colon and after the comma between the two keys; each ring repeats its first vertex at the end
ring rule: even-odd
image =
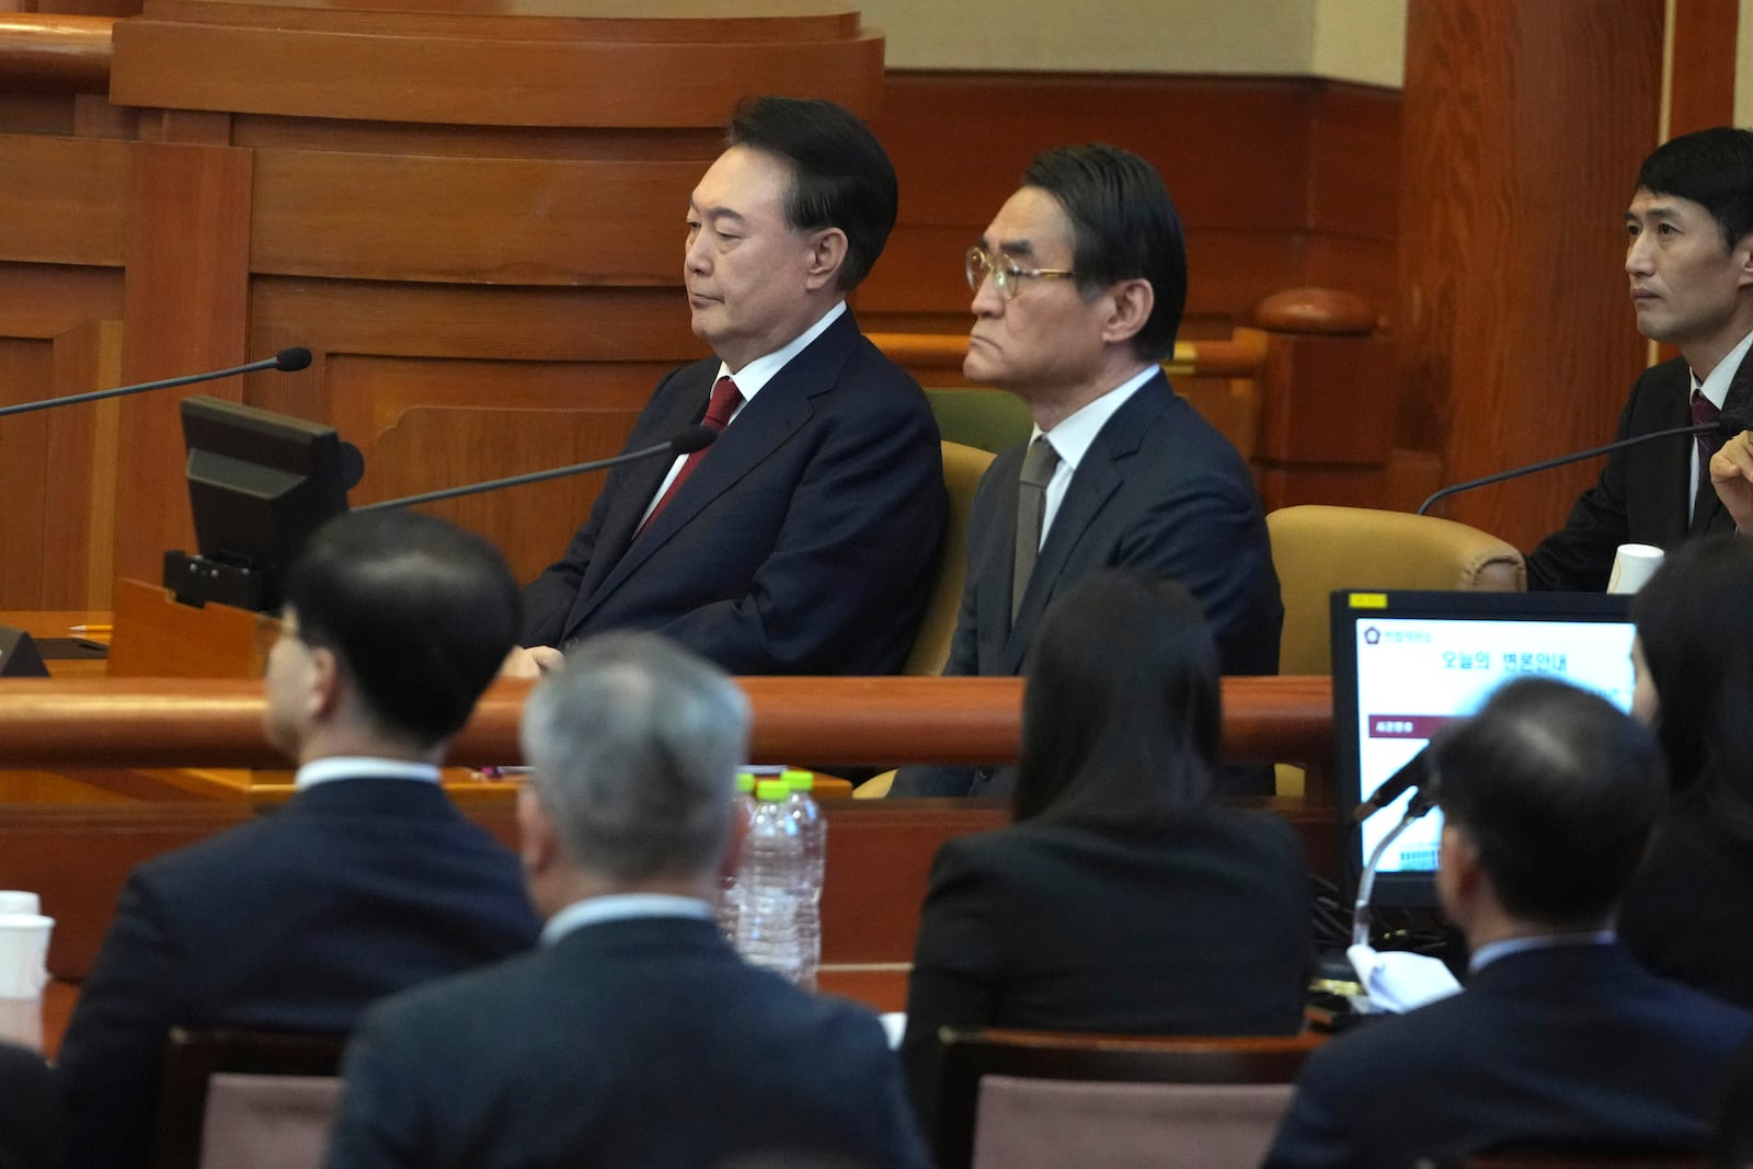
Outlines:
{"type": "MultiPolygon", "coordinates": [[[[1660,0],[1413,0],[1397,436],[1450,482],[1602,442],[1644,365],[1622,216],[1657,140],[1662,18],[1660,0]]],[[[1525,549],[1597,473],[1446,514],[1525,549]]]]}

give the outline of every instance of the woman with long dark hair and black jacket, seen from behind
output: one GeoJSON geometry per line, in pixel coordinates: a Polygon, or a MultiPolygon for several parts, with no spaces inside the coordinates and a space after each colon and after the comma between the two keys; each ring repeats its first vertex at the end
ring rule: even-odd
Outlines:
{"type": "Polygon", "coordinates": [[[938,852],[905,1062],[941,1025],[1271,1034],[1302,1025],[1302,850],[1213,799],[1218,655],[1182,585],[1103,571],[1048,612],[1024,692],[1015,824],[938,852]]]}

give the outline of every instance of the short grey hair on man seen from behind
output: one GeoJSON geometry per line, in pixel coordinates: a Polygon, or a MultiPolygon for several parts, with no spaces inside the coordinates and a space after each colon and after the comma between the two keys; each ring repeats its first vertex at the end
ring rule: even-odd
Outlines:
{"type": "Polygon", "coordinates": [[[578,866],[638,882],[724,859],[749,701],[717,666],[652,633],[589,638],[531,694],[522,745],[578,866]]]}

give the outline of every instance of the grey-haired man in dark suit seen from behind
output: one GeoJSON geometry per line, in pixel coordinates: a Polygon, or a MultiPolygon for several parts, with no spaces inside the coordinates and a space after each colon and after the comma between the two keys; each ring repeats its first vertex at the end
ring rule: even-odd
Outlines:
{"type": "Polygon", "coordinates": [[[330,1169],[929,1164],[876,1018],[745,966],[712,920],[747,726],[654,634],[594,638],[536,689],[517,811],[543,945],[366,1017],[330,1169]]]}

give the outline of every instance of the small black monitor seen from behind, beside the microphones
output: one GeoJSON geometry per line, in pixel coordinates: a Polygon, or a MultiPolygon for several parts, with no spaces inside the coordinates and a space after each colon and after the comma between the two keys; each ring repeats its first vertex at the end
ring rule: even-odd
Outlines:
{"type": "Polygon", "coordinates": [[[280,606],[280,577],[324,521],[347,510],[359,450],[335,428],[219,398],[182,400],[196,556],[165,552],[186,605],[280,606]]]}

